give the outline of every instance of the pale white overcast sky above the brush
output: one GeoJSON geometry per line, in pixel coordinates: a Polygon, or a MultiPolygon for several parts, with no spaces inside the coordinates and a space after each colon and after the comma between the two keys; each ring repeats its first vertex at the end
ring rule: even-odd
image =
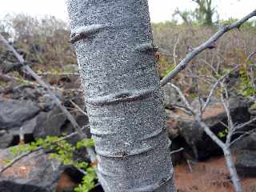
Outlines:
{"type": "MultiPolygon", "coordinates": [[[[34,16],[53,15],[68,21],[66,0],[0,0],[0,18],[5,14],[25,13],[34,16]]],[[[127,0],[129,1],[129,0],[127,0]]],[[[255,0],[215,0],[220,18],[242,18],[256,9],[255,0]]],[[[149,0],[152,22],[170,21],[174,10],[191,10],[191,0],[149,0]]]]}

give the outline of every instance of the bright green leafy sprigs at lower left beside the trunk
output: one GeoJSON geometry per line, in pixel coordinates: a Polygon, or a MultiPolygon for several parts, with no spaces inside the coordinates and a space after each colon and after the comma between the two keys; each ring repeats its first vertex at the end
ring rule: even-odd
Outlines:
{"type": "MultiPolygon", "coordinates": [[[[50,137],[39,138],[36,142],[31,142],[25,145],[18,145],[10,148],[10,154],[14,158],[18,157],[23,153],[28,153],[34,150],[37,150],[38,147],[42,147],[44,150],[50,150],[50,158],[56,159],[59,162],[62,162],[64,165],[73,165],[78,169],[86,171],[86,175],[82,178],[82,183],[79,184],[74,191],[75,192],[87,192],[94,188],[97,181],[97,175],[94,171],[94,168],[90,166],[89,163],[82,160],[74,160],[74,154],[77,150],[82,149],[83,147],[92,147],[94,146],[94,140],[92,139],[83,139],[80,142],[77,142],[76,146],[71,145],[66,140],[62,140],[59,137],[50,137]]],[[[6,159],[4,162],[10,163],[11,159],[6,159]]]]}

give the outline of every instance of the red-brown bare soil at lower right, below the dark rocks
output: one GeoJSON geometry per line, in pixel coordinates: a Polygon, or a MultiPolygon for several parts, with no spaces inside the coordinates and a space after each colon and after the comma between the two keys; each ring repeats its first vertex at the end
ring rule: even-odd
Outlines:
{"type": "MultiPolygon", "coordinates": [[[[174,167],[178,192],[233,192],[224,158],[187,163],[174,167]]],[[[256,178],[242,178],[244,192],[256,192],[256,178]]]]}

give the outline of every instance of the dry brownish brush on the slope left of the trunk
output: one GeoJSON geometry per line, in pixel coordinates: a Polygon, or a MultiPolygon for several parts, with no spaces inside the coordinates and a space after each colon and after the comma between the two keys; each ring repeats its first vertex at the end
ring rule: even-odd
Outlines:
{"type": "MultiPolygon", "coordinates": [[[[76,63],[66,22],[54,17],[32,18],[25,14],[7,15],[0,20],[0,33],[14,42],[14,46],[34,67],[58,69],[76,63]]],[[[1,52],[1,51],[0,51],[1,52]]],[[[0,54],[0,61],[5,55],[0,54]]]]}

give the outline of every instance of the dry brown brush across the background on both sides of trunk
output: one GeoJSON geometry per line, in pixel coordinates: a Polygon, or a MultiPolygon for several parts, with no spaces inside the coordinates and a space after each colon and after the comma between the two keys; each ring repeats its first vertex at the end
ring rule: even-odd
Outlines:
{"type": "MultiPolygon", "coordinates": [[[[218,28],[209,26],[175,26],[170,24],[154,24],[154,42],[162,50],[160,59],[160,74],[174,65],[174,46],[177,44],[175,54],[176,62],[184,58],[189,47],[195,47],[210,38],[218,28]],[[177,42],[177,40],[179,41],[177,42]]],[[[0,33],[14,40],[14,46],[26,54],[26,59],[33,62],[34,66],[45,68],[46,66],[65,66],[76,63],[74,50],[69,41],[70,31],[66,22],[54,17],[31,18],[25,14],[7,15],[0,20],[0,33]]],[[[212,73],[210,66],[234,66],[243,63],[248,54],[256,47],[256,30],[242,29],[226,34],[218,42],[218,48],[207,50],[200,54],[186,73],[179,75],[180,84],[193,82],[186,74],[194,72],[212,73]]],[[[0,61],[1,59],[0,55],[0,61]]]]}

